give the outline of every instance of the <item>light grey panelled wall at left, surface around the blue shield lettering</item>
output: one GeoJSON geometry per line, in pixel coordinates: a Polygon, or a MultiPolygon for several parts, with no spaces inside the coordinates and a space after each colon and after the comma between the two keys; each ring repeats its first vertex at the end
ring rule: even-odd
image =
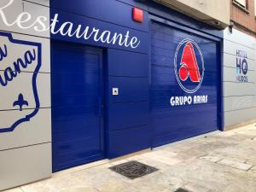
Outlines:
{"type": "MultiPolygon", "coordinates": [[[[0,8],[9,0],[1,0],[0,8]]],[[[15,0],[4,13],[9,22],[14,21],[22,11],[32,14],[32,18],[44,15],[49,18],[49,0],[15,0]],[[33,3],[34,2],[34,3],[33,3]],[[42,4],[42,5],[40,5],[42,4]],[[44,5],[44,6],[43,6],[44,5]]],[[[36,50],[36,60],[8,82],[0,84],[0,190],[9,189],[20,184],[30,183],[51,175],[51,102],[50,102],[50,41],[49,32],[35,32],[33,29],[20,29],[19,26],[5,26],[0,18],[0,32],[8,32],[15,40],[41,44],[38,46],[12,42],[8,37],[0,35],[0,47],[8,48],[8,55],[0,61],[0,77],[18,58],[24,59],[27,50],[36,50]],[[41,56],[40,56],[40,54],[41,56]],[[38,92],[40,108],[29,121],[15,126],[14,131],[1,132],[14,124],[18,119],[26,117],[36,108],[35,91],[32,78],[38,63],[42,60],[35,84],[38,92]],[[20,93],[28,106],[14,106],[20,93]]]]}

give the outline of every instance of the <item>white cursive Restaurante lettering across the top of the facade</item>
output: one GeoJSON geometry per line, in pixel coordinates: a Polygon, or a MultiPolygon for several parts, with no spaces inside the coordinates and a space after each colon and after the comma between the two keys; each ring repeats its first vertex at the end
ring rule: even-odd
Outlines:
{"type": "Polygon", "coordinates": [[[84,40],[92,39],[95,42],[101,42],[102,44],[118,44],[119,46],[125,46],[126,48],[131,47],[132,49],[136,49],[140,44],[137,37],[130,37],[129,31],[122,34],[118,32],[110,32],[108,30],[101,30],[91,26],[76,26],[69,21],[58,26],[58,14],[55,14],[52,20],[48,20],[48,18],[43,15],[32,20],[32,15],[30,13],[22,12],[17,16],[15,21],[9,22],[3,10],[8,8],[12,3],[14,3],[14,0],[9,0],[9,3],[0,8],[1,18],[6,26],[19,26],[21,29],[33,28],[36,32],[46,32],[50,30],[52,34],[59,33],[61,36],[67,36],[69,38],[83,38],[84,40]],[[47,21],[50,22],[50,25],[46,24],[47,21]]]}

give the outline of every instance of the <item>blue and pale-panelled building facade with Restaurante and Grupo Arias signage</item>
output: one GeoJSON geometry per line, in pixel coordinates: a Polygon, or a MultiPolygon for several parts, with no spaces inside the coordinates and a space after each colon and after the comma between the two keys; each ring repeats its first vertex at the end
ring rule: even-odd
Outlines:
{"type": "Polygon", "coordinates": [[[207,2],[1,1],[0,190],[253,119],[251,39],[207,2]]]}

